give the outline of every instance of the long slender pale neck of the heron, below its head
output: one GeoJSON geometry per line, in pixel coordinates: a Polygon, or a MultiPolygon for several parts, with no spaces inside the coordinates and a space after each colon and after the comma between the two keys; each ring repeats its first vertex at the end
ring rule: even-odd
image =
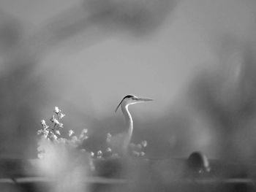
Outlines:
{"type": "Polygon", "coordinates": [[[124,150],[127,150],[129,146],[129,142],[132,139],[133,121],[132,121],[132,115],[129,113],[128,106],[122,106],[121,110],[124,113],[124,118],[126,122],[125,131],[127,131],[127,134],[126,134],[126,137],[124,138],[124,150]]]}

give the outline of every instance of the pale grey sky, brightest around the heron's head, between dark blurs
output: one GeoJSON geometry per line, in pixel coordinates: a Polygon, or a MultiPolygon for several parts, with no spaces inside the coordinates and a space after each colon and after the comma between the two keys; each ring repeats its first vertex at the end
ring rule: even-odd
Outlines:
{"type": "MultiPolygon", "coordinates": [[[[0,6],[37,28],[79,2],[1,0],[0,6]]],[[[154,109],[153,114],[159,114],[182,95],[195,72],[217,63],[222,34],[255,38],[254,9],[253,1],[184,0],[159,30],[146,37],[121,32],[85,48],[86,42],[79,45],[78,40],[78,50],[70,54],[63,52],[68,43],[53,49],[40,62],[37,75],[48,75],[46,81],[53,90],[59,88],[63,103],[82,107],[89,97],[95,112],[102,113],[133,93],[155,99],[139,110],[154,109]]]]}

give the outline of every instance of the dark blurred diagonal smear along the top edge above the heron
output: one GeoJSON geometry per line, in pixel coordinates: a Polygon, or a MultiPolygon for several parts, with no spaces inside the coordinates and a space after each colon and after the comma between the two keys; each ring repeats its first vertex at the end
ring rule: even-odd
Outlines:
{"type": "Polygon", "coordinates": [[[178,1],[84,0],[50,18],[32,39],[48,49],[68,42],[64,47],[76,50],[80,45],[88,47],[116,34],[146,37],[162,25],[178,1]]]}

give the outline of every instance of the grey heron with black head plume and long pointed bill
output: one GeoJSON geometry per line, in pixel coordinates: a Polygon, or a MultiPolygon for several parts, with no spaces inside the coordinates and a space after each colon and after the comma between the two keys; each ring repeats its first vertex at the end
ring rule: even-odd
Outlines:
{"type": "Polygon", "coordinates": [[[129,143],[132,139],[132,131],[133,131],[132,115],[130,114],[128,107],[130,104],[138,104],[145,101],[153,101],[153,99],[139,98],[138,96],[127,95],[127,96],[124,96],[124,98],[116,107],[115,112],[117,112],[118,108],[121,107],[121,111],[123,112],[124,118],[125,118],[126,128],[124,133],[114,136],[114,138],[111,140],[112,140],[112,145],[118,145],[113,147],[119,147],[119,150],[121,149],[121,153],[123,154],[127,153],[129,143]],[[121,139],[121,146],[120,146],[120,139],[121,139]],[[118,142],[116,142],[117,140],[118,142]]]}

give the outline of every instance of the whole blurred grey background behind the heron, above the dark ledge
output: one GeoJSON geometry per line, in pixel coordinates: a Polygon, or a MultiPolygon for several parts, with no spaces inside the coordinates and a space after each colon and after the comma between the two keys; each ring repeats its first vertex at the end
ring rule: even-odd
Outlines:
{"type": "Polygon", "coordinates": [[[1,0],[0,156],[37,157],[55,106],[95,141],[123,131],[151,158],[256,158],[253,0],[1,0]]]}

